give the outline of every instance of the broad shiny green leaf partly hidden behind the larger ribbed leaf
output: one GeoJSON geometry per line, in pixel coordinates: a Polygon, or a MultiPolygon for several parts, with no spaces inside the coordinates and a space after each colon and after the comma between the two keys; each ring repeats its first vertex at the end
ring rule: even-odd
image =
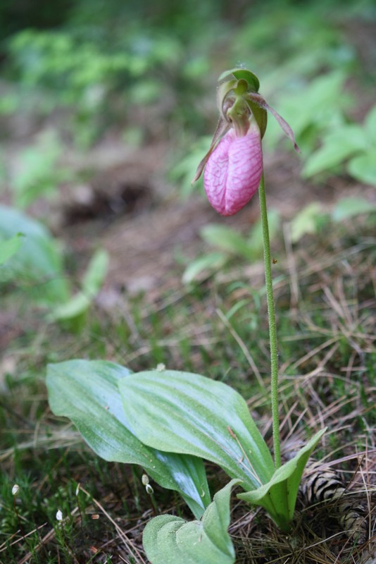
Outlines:
{"type": "Polygon", "coordinates": [[[211,501],[203,462],[142,444],[125,415],[118,382],[129,370],[101,360],[49,364],[46,385],[55,415],[69,417],[104,460],[137,464],[158,484],[178,491],[196,517],[211,501]]]}

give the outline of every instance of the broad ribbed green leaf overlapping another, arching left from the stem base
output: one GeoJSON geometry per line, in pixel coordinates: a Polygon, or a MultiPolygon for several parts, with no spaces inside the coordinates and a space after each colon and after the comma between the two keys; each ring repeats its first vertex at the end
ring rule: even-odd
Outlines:
{"type": "Polygon", "coordinates": [[[246,402],[230,386],[175,370],[130,374],[119,383],[142,443],[206,458],[246,489],[270,480],[274,463],[246,402]]]}

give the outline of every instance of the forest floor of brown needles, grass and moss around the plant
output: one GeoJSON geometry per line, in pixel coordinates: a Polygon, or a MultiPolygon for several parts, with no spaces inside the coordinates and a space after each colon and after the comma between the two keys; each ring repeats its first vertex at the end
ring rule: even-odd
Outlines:
{"type": "MultiPolygon", "coordinates": [[[[11,159],[11,143],[7,150],[11,159]]],[[[16,305],[4,301],[1,563],[147,562],[142,529],[156,509],[139,470],[99,460],[71,424],[51,414],[47,362],[102,358],[134,371],[163,362],[221,379],[244,395],[270,442],[262,259],[247,263],[230,255],[222,269],[204,271],[189,285],[182,281],[187,265],[211,250],[201,228],[220,223],[246,237],[258,220],[258,199],[226,219],[197,191],[183,200],[179,186],[166,181],[171,150],[167,142],[132,149],[113,137],[84,158],[67,152],[65,166],[91,171],[89,180],[61,185],[52,202],[30,208],[47,217],[63,241],[73,281],[98,247],[108,251],[110,263],[79,333],[46,321],[27,295],[16,305]],[[13,505],[15,483],[20,495],[13,505]],[[55,520],[58,508],[64,526],[55,520]]],[[[343,197],[374,201],[375,191],[344,174],[308,183],[300,166],[299,157],[282,149],[265,155],[268,205],[281,218],[272,256],[284,450],[288,456],[305,434],[328,427],[322,468],[339,473],[358,512],[358,532],[366,528],[369,540],[359,544],[346,532],[346,520],[331,504],[303,502],[292,534],[285,535],[262,511],[234,499],[230,533],[239,564],[375,564],[374,224],[365,216],[324,223],[298,242],[290,230],[311,202],[330,213],[343,197]]],[[[211,464],[208,476],[213,491],[226,482],[211,464]]],[[[192,518],[176,496],[154,490],[158,511],[192,518]]]]}

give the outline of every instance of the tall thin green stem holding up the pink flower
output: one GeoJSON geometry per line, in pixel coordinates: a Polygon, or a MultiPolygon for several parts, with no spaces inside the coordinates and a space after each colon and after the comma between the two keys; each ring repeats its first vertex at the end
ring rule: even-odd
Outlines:
{"type": "Polygon", "coordinates": [[[275,467],[281,466],[280,450],[280,419],[278,416],[278,350],[277,350],[277,327],[275,324],[275,307],[272,286],[272,261],[270,257],[270,238],[268,226],[268,213],[266,209],[264,175],[261,176],[258,187],[260,197],[261,225],[263,227],[263,247],[265,262],[265,287],[268,302],[269,318],[269,341],[270,341],[270,373],[271,373],[271,399],[272,399],[272,433],[274,446],[275,467]]]}

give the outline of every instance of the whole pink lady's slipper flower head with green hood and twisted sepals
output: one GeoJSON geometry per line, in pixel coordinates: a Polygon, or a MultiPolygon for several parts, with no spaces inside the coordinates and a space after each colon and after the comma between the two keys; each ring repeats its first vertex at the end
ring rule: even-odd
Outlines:
{"type": "Polygon", "coordinates": [[[289,124],[258,94],[258,78],[244,68],[235,68],[220,76],[218,107],[220,121],[211,148],[197,169],[208,200],[223,216],[239,212],[255,194],[263,174],[261,139],[270,111],[296,151],[299,148],[289,124]]]}

